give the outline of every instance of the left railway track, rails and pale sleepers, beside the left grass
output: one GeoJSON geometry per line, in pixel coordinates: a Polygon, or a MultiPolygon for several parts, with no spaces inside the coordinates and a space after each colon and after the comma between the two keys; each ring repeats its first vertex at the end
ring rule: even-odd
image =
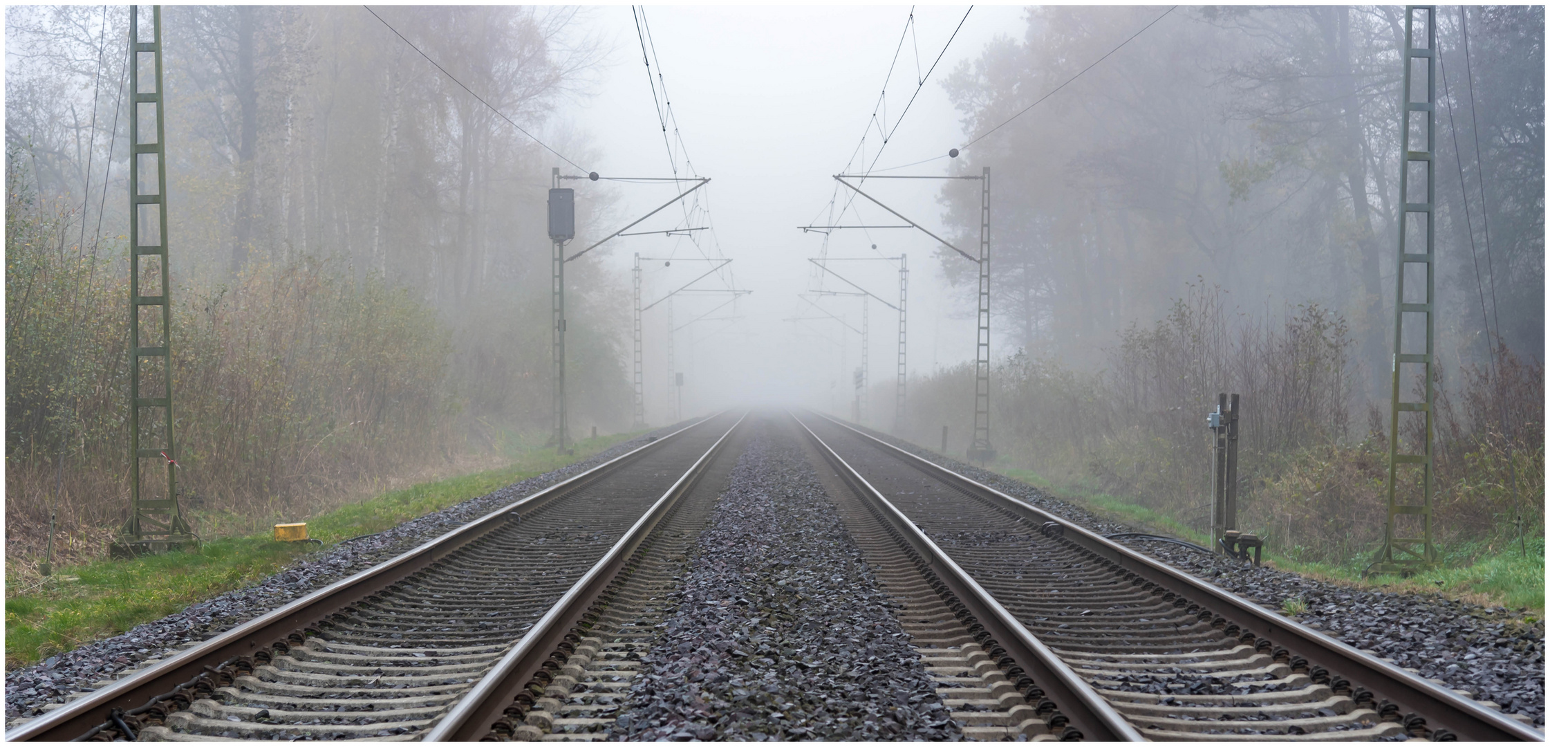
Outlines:
{"type": "Polygon", "coordinates": [[[130,673],[6,739],[420,739],[512,654],[539,643],[574,649],[549,635],[567,635],[560,611],[608,584],[739,422],[722,414],[684,428],[130,673]]]}

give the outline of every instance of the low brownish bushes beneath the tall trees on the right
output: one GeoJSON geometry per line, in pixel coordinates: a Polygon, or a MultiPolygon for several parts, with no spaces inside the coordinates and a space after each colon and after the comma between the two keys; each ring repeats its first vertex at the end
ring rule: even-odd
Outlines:
{"type": "MultiPolygon", "coordinates": [[[[1348,437],[1353,344],[1344,319],[1316,305],[1288,308],[1273,325],[1228,313],[1220,290],[1190,285],[1166,318],[1124,330],[1097,372],[1023,352],[1003,360],[990,377],[997,466],[1121,521],[1198,539],[1211,511],[1204,415],[1218,392],[1238,392],[1238,527],[1282,558],[1369,558],[1387,518],[1387,422],[1372,409],[1367,437],[1348,437]]],[[[1494,367],[1466,366],[1459,386],[1437,381],[1434,507],[1445,547],[1541,536],[1544,369],[1505,347],[1496,356],[1494,367]]],[[[938,448],[946,423],[949,453],[963,454],[972,392],[967,366],[911,381],[904,435],[938,448]]],[[[1401,471],[1400,494],[1417,494],[1417,480],[1401,471]]]]}

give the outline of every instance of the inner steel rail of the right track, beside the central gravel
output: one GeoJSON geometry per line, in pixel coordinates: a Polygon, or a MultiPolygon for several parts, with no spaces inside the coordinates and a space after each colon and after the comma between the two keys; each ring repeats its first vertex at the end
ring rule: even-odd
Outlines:
{"type": "MultiPolygon", "coordinates": [[[[787,414],[790,414],[787,411],[787,414]]],[[[829,448],[795,414],[792,420],[808,432],[818,453],[834,466],[840,477],[863,501],[877,508],[890,525],[902,536],[936,572],[942,583],[958,597],[980,625],[1028,671],[1045,694],[1060,708],[1071,725],[1082,732],[1083,739],[1104,742],[1144,742],[1136,727],[1108,704],[1091,685],[1071,670],[1054,651],[1049,651],[1012,612],[984,590],[958,563],[955,563],[932,538],[921,532],[897,507],[857,473],[839,453],[829,448]]]]}

